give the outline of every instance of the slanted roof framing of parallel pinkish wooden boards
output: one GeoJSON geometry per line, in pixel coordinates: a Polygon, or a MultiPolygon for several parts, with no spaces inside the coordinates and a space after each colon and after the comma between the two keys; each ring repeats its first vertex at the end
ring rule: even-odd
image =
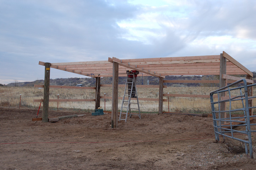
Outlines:
{"type": "MultiPolygon", "coordinates": [[[[249,74],[247,68],[223,51],[227,58],[227,75],[249,74]]],[[[108,61],[65,62],[51,63],[51,68],[64,70],[85,76],[112,77],[113,64],[119,63],[119,76],[126,76],[126,70],[135,69],[138,76],[165,77],[166,75],[219,75],[220,55],[187,56],[187,57],[161,57],[124,59],[108,58],[108,61]]],[[[44,62],[39,61],[44,66],[44,62]]]]}

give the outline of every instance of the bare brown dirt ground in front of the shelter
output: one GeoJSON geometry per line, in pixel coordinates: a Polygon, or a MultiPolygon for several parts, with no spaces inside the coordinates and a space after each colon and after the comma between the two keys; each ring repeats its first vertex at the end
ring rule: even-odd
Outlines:
{"type": "Polygon", "coordinates": [[[36,117],[37,109],[0,107],[0,169],[254,170],[256,167],[256,160],[245,153],[221,152],[222,144],[215,143],[212,118],[144,113],[141,119],[133,115],[127,123],[118,122],[118,128],[112,129],[111,114],[49,111],[49,117],[72,114],[86,115],[56,123],[35,123],[32,118],[36,117]]]}

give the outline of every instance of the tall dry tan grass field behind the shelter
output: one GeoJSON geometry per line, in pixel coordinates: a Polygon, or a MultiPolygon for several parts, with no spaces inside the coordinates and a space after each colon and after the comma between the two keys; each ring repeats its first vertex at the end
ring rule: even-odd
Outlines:
{"type": "MultiPolygon", "coordinates": [[[[164,93],[169,94],[197,94],[209,95],[211,91],[216,90],[216,87],[168,87],[164,88],[164,93]]],[[[34,99],[43,98],[43,89],[36,87],[0,87],[0,106],[19,107],[21,94],[21,107],[38,108],[38,102],[33,102],[34,99]]],[[[159,90],[157,88],[137,88],[139,98],[158,98],[159,90]]],[[[101,96],[112,96],[111,87],[101,87],[101,96]]],[[[124,87],[118,89],[118,96],[122,97],[124,87]]],[[[239,92],[235,92],[238,94],[239,92]]],[[[79,89],[50,89],[50,99],[94,99],[95,90],[79,90],[79,89]]],[[[254,95],[256,94],[254,90],[254,95]]],[[[234,95],[234,94],[233,94],[234,95]]],[[[168,99],[168,97],[164,97],[168,99]]],[[[111,99],[101,99],[101,107],[111,111],[111,99]]],[[[122,100],[118,100],[120,109],[122,100]]],[[[158,101],[139,101],[141,112],[158,112],[158,101]]],[[[228,105],[228,104],[227,104],[228,105]]],[[[240,103],[232,103],[233,106],[240,107],[240,103]]],[[[255,106],[255,100],[254,100],[255,106]]],[[[57,109],[57,102],[50,102],[51,109],[57,109]]],[[[85,109],[92,111],[95,107],[95,102],[59,102],[59,109],[85,109]]],[[[228,107],[228,106],[227,106],[228,107]]],[[[169,97],[168,102],[163,102],[164,112],[189,112],[189,113],[211,113],[210,98],[196,97],[169,97]]]]}

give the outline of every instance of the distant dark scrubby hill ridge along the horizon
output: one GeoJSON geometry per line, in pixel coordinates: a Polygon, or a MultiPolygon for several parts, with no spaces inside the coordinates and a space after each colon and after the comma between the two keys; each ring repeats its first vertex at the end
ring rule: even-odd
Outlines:
{"type": "MultiPolygon", "coordinates": [[[[256,77],[256,73],[254,73],[254,78],[256,77]]],[[[237,75],[238,76],[238,75],[237,75]]],[[[164,80],[218,80],[218,75],[206,75],[206,76],[166,76],[164,80]]],[[[159,84],[159,78],[153,77],[153,76],[147,76],[147,77],[137,77],[137,84],[147,84],[147,81],[149,80],[150,85],[158,85],[159,84]]],[[[112,77],[103,77],[101,78],[101,84],[112,84],[112,77]]],[[[256,80],[254,80],[256,83],[256,80]]],[[[126,77],[119,77],[118,84],[125,84],[126,83],[126,77]]],[[[44,80],[35,80],[35,81],[29,81],[29,82],[16,82],[16,83],[10,83],[6,86],[11,87],[32,87],[34,84],[44,84],[44,80]]],[[[95,78],[58,78],[58,79],[50,79],[50,85],[59,85],[59,86],[76,86],[77,84],[82,84],[83,86],[95,86],[95,78]]],[[[164,85],[167,86],[200,86],[201,83],[164,83],[164,85]]],[[[218,84],[204,84],[204,86],[216,86],[218,87],[218,84]]]]}

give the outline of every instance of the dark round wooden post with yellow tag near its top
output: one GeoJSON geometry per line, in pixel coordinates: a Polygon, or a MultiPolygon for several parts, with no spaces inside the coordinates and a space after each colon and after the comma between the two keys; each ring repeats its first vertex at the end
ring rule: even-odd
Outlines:
{"type": "Polygon", "coordinates": [[[51,63],[45,63],[44,70],[44,100],[42,122],[48,122],[49,111],[49,90],[50,90],[50,66],[51,63]]]}

